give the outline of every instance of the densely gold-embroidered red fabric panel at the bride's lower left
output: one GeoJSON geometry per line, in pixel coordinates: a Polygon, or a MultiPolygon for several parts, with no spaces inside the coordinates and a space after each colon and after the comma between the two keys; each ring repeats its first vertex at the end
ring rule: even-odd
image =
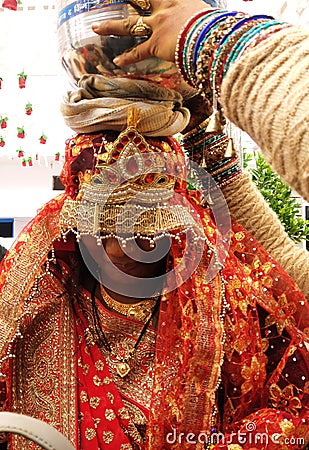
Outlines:
{"type": "MultiPolygon", "coordinates": [[[[61,286],[46,276],[39,284],[40,312],[22,323],[23,338],[16,342],[13,360],[13,410],[43,420],[76,446],[76,373],[72,310],[58,298],[61,286]]],[[[35,303],[35,300],[33,300],[35,303]]],[[[35,306],[35,305],[34,305],[35,306]]],[[[11,449],[38,449],[21,436],[11,449]]]]}

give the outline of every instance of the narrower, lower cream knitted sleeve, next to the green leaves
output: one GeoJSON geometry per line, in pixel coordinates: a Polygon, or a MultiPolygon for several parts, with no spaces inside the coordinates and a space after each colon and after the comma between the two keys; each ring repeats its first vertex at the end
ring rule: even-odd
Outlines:
{"type": "Polygon", "coordinates": [[[296,281],[309,300],[309,252],[297,247],[248,173],[221,188],[231,215],[296,281]]]}

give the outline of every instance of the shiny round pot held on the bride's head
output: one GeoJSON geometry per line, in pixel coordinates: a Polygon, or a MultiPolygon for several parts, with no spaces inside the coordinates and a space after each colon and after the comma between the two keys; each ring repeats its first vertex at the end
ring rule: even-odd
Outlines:
{"type": "MultiPolygon", "coordinates": [[[[126,67],[118,67],[113,59],[142,42],[141,37],[98,36],[91,29],[93,22],[140,17],[139,12],[123,0],[59,0],[58,48],[62,65],[73,85],[84,74],[129,77],[153,81],[178,89],[180,76],[174,64],[149,58],[126,67]]],[[[134,23],[134,20],[132,21],[134,23]]]]}

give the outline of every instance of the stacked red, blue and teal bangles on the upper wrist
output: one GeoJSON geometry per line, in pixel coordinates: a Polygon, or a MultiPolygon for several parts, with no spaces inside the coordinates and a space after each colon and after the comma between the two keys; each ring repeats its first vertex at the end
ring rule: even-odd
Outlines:
{"type": "Polygon", "coordinates": [[[271,16],[225,10],[204,10],[181,30],[175,62],[182,77],[202,95],[219,100],[227,71],[244,52],[290,26],[271,16]]]}

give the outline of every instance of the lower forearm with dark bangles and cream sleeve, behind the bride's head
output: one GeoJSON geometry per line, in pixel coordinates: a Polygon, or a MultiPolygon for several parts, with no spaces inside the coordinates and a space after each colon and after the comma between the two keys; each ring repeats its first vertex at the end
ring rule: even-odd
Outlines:
{"type": "Polygon", "coordinates": [[[263,245],[309,299],[309,253],[289,238],[250,175],[242,172],[237,156],[226,156],[231,153],[228,136],[209,133],[208,125],[205,121],[185,134],[183,145],[190,158],[204,166],[215,182],[217,188],[210,192],[212,201],[218,208],[222,203],[218,196],[223,193],[235,220],[263,245]]]}

